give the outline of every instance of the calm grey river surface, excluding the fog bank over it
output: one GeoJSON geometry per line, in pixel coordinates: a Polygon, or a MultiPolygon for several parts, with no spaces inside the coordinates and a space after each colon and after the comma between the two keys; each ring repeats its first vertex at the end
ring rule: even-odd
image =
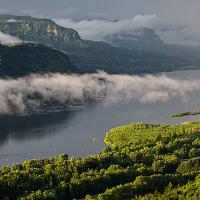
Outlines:
{"type": "MultiPolygon", "coordinates": [[[[200,77],[200,71],[169,73],[173,77],[200,77]]],[[[165,103],[143,104],[130,102],[84,109],[48,111],[27,116],[0,117],[0,165],[25,159],[49,157],[61,152],[85,156],[98,153],[104,146],[107,130],[130,122],[174,124],[198,120],[200,116],[166,118],[177,112],[200,109],[200,94],[192,93],[184,101],[174,98],[165,103]],[[93,142],[97,138],[98,142],[93,142]]]]}

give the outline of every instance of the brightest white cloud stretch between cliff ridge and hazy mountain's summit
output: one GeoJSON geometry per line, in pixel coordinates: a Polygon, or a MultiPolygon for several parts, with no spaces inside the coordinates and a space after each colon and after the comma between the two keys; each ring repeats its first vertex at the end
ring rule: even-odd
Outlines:
{"type": "Polygon", "coordinates": [[[156,15],[137,15],[131,19],[123,19],[118,21],[100,19],[82,21],[56,19],[54,21],[61,26],[75,29],[79,32],[83,39],[101,41],[110,34],[134,32],[136,29],[142,27],[153,28],[156,20],[156,15]]]}

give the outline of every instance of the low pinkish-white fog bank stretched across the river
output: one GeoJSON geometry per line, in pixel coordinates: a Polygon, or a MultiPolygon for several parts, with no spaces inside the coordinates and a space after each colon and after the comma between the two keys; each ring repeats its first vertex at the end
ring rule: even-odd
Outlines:
{"type": "Polygon", "coordinates": [[[0,114],[23,114],[56,103],[71,105],[102,100],[104,105],[139,101],[183,100],[199,91],[199,80],[181,80],[166,75],[33,74],[18,79],[0,79],[0,114]]]}

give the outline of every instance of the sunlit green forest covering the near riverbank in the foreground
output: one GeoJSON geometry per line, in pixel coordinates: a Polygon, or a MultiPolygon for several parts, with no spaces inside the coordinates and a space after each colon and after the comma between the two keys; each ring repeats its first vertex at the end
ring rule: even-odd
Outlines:
{"type": "Polygon", "coordinates": [[[111,129],[98,155],[61,154],[0,171],[4,199],[199,199],[200,122],[111,129]]]}

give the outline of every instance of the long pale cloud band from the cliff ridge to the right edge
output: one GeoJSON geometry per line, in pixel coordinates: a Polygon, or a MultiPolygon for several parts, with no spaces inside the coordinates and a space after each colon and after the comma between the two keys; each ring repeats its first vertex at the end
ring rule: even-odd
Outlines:
{"type": "Polygon", "coordinates": [[[130,19],[117,21],[105,19],[71,20],[55,19],[61,26],[73,28],[83,39],[104,41],[107,35],[129,33],[137,34],[139,28],[152,28],[160,38],[169,44],[200,45],[200,27],[198,24],[189,25],[183,21],[167,21],[157,15],[136,15],[130,19]]]}

